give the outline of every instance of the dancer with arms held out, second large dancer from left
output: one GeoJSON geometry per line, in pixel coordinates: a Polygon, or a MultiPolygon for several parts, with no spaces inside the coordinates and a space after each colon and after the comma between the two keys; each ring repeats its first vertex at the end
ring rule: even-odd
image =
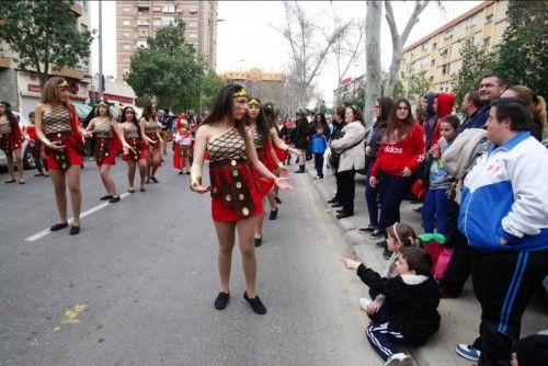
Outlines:
{"type": "Polygon", "coordinates": [[[119,129],[118,124],[112,117],[109,103],[101,101],[95,110],[95,117],[91,119],[88,127],[83,131],[84,137],[92,137],[95,134],[95,162],[99,167],[101,182],[103,182],[106,195],[102,196],[101,201],[109,201],[114,204],[119,201],[119,195],[116,191],[116,185],[111,176],[111,167],[116,163],[116,153],[119,150],[119,141],[125,150],[133,150],[126,142],[124,133],[119,129]],[[114,136],[116,135],[116,136],[114,136]],[[117,140],[116,137],[119,139],[117,140]]]}

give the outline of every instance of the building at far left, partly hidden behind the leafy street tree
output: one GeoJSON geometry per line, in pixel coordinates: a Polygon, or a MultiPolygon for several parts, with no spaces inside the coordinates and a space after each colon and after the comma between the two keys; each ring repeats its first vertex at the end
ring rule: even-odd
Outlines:
{"type": "MultiPolygon", "coordinates": [[[[75,26],[80,32],[90,30],[89,1],[75,0],[71,9],[75,15],[75,26]]],[[[15,62],[16,54],[8,44],[1,42],[0,48],[0,100],[12,105],[14,111],[27,115],[34,111],[39,102],[42,88],[36,72],[28,67],[20,69],[15,62]]],[[[55,65],[49,68],[50,76],[67,79],[72,103],[85,103],[91,84],[90,60],[81,59],[75,68],[59,68],[55,65]]]]}

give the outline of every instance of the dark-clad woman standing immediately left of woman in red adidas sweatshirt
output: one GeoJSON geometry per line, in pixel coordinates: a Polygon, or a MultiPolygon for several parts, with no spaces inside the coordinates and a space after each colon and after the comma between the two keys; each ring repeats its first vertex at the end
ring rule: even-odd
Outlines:
{"type": "Polygon", "coordinates": [[[377,159],[377,151],[380,144],[380,139],[385,134],[386,124],[388,123],[388,117],[392,111],[393,101],[390,96],[379,96],[375,101],[374,113],[375,124],[373,125],[369,136],[367,136],[366,147],[365,147],[365,170],[367,172],[367,178],[365,180],[365,201],[367,202],[367,213],[369,214],[369,225],[366,228],[359,229],[359,231],[373,232],[378,229],[378,188],[369,184],[369,178],[373,164],[377,159]]]}

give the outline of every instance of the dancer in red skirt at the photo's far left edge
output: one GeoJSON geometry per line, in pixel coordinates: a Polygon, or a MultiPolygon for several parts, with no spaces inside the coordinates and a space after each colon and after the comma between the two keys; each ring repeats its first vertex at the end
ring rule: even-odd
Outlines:
{"type": "Polygon", "coordinates": [[[8,102],[0,102],[0,149],[5,152],[8,159],[8,172],[10,179],[5,183],[15,182],[15,163],[18,164],[19,183],[25,184],[23,172],[23,160],[21,159],[21,145],[23,135],[19,128],[18,118],[11,112],[8,102]],[[15,159],[13,159],[15,158],[15,159]]]}

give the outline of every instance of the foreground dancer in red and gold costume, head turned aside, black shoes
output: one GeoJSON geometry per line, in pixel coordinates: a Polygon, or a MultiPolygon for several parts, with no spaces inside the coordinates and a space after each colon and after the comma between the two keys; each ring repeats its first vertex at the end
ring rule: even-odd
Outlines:
{"type": "Polygon", "coordinates": [[[212,194],[212,215],[219,241],[218,266],[220,293],[215,308],[225,309],[229,300],[229,278],[232,249],[238,242],[246,275],[243,298],[253,311],[266,313],[266,308],[255,293],[256,258],[253,233],[263,210],[262,196],[253,169],[283,190],[293,188],[287,178],[276,178],[258,159],[253,139],[246,130],[248,98],[240,85],[230,84],[219,92],[204,123],[196,133],[194,163],[191,170],[191,188],[212,194]],[[209,181],[202,185],[202,168],[208,153],[209,181]]]}

